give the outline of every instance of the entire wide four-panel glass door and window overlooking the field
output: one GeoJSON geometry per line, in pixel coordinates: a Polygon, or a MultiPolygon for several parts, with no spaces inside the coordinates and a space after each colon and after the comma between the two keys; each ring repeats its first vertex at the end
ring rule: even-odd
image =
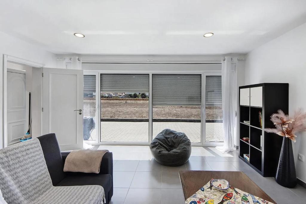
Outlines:
{"type": "Polygon", "coordinates": [[[87,143],[149,144],[166,128],[193,145],[224,142],[219,71],[85,73],[87,143]]]}

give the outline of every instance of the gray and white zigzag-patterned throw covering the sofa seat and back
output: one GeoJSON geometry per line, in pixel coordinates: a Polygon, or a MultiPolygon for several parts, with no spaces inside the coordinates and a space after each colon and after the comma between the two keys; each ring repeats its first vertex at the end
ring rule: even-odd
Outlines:
{"type": "Polygon", "coordinates": [[[0,149],[0,189],[9,204],[105,201],[100,185],[54,187],[38,139],[0,149]]]}

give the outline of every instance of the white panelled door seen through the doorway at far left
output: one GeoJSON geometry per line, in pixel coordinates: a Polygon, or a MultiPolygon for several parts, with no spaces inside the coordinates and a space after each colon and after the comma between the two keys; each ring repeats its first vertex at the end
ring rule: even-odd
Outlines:
{"type": "Polygon", "coordinates": [[[7,144],[19,141],[27,132],[25,71],[7,70],[7,144]]]}

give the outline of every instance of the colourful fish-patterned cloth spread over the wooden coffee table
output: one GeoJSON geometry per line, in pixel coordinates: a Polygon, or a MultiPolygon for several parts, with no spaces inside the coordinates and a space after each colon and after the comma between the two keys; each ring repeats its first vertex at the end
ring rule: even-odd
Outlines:
{"type": "Polygon", "coordinates": [[[213,181],[214,179],[211,179],[199,191],[187,198],[185,204],[273,204],[232,186],[220,191],[213,186],[213,181]]]}

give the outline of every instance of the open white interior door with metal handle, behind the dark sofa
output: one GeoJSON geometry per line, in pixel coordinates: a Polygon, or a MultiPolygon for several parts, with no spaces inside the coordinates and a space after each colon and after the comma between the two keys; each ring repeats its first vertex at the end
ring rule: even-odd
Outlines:
{"type": "Polygon", "coordinates": [[[83,70],[43,68],[42,118],[62,151],[83,148],[83,70]]]}

